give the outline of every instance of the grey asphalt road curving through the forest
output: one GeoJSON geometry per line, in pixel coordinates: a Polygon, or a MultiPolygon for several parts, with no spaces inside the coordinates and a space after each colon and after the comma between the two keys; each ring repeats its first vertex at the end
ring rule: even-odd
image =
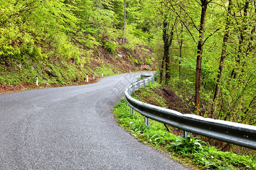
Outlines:
{"type": "Polygon", "coordinates": [[[142,145],[112,109],[136,74],[0,95],[0,169],[188,169],[142,145]]]}

